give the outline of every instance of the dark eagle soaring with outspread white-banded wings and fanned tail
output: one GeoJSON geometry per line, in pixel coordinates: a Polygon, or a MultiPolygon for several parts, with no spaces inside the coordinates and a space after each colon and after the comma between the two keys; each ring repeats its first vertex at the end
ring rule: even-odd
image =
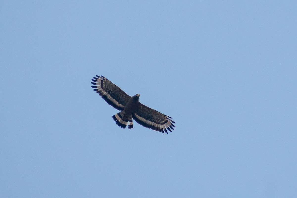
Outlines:
{"type": "Polygon", "coordinates": [[[93,78],[91,83],[95,86],[91,87],[94,88],[94,91],[108,104],[120,110],[119,113],[112,116],[118,126],[125,129],[128,125],[128,129],[132,129],[133,118],[137,123],[149,129],[167,134],[168,131],[172,132],[171,129],[173,130],[175,127],[172,118],[141,104],[138,100],[139,94],[129,96],[104,76],[96,75],[93,78]]]}

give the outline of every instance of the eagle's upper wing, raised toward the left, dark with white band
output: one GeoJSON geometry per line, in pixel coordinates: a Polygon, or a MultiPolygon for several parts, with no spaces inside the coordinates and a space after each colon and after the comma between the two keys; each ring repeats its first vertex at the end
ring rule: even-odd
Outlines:
{"type": "Polygon", "coordinates": [[[131,98],[118,86],[107,80],[104,76],[97,76],[92,79],[94,83],[92,88],[96,91],[108,104],[117,110],[124,110],[125,105],[131,98]],[[97,77],[97,78],[96,78],[97,77]]]}

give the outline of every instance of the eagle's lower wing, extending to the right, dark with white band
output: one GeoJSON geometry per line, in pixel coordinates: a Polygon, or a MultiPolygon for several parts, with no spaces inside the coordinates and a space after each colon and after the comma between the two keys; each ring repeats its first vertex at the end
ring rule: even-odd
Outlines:
{"type": "Polygon", "coordinates": [[[171,129],[173,130],[173,127],[175,127],[173,125],[175,122],[170,119],[171,117],[151,109],[141,103],[139,103],[138,109],[132,113],[132,117],[142,126],[162,133],[168,133],[167,130],[171,132],[171,129]]]}

